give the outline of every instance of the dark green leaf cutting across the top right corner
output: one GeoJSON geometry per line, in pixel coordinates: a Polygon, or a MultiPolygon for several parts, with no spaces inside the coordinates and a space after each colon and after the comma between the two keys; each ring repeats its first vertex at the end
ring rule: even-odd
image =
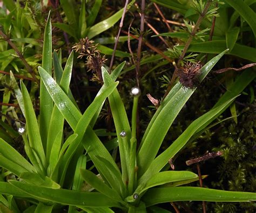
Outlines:
{"type": "Polygon", "coordinates": [[[245,21],[250,25],[254,37],[256,37],[256,13],[250,6],[248,6],[244,1],[240,0],[226,0],[226,2],[231,5],[239,15],[245,19],[245,21]]]}

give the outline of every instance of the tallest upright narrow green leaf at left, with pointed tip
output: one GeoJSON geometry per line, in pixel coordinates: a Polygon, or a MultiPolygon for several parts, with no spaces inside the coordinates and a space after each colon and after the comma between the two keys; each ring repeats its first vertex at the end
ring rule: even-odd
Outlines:
{"type": "MultiPolygon", "coordinates": [[[[50,12],[49,12],[47,23],[45,26],[45,31],[44,31],[42,67],[50,75],[51,75],[51,68],[52,68],[51,63],[52,63],[52,40],[51,40],[51,18],[50,18],[50,12]]],[[[41,80],[39,128],[40,128],[41,135],[44,135],[44,137],[42,137],[42,145],[43,145],[43,150],[45,150],[45,152],[46,152],[46,143],[47,143],[46,135],[48,135],[52,108],[53,108],[52,99],[48,94],[48,92],[46,91],[43,81],[41,80]]]]}

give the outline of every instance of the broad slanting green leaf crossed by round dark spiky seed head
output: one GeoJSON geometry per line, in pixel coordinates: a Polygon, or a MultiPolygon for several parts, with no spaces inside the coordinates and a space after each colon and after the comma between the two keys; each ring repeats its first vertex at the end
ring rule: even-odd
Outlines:
{"type": "MultiPolygon", "coordinates": [[[[208,61],[207,64],[201,68],[201,74],[199,76],[200,81],[202,81],[208,72],[211,71],[212,67],[217,63],[217,61],[227,52],[227,50],[220,53],[218,56],[214,57],[212,60],[208,61]]],[[[191,97],[194,90],[186,87],[179,86],[180,83],[174,87],[174,91],[179,88],[179,90],[174,94],[165,106],[161,109],[156,119],[152,123],[149,132],[143,142],[142,147],[139,149],[137,162],[138,162],[138,176],[142,176],[143,173],[149,168],[153,159],[156,157],[157,152],[163,142],[167,131],[169,130],[172,122],[180,112],[181,108],[186,104],[187,100],[191,97]]]]}

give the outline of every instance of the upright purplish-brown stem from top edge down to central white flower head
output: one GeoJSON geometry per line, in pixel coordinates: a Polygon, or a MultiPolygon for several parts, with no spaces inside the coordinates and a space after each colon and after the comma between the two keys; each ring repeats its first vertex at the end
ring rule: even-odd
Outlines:
{"type": "Polygon", "coordinates": [[[143,43],[143,32],[144,32],[144,21],[145,21],[145,0],[142,0],[141,6],[141,15],[140,15],[140,35],[136,59],[136,82],[139,87],[139,66],[140,66],[140,57],[142,56],[142,43],[143,43]]]}

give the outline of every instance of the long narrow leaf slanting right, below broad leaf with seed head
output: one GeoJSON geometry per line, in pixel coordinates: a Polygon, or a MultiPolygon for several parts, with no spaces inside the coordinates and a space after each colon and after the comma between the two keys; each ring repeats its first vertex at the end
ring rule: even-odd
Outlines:
{"type": "Polygon", "coordinates": [[[176,155],[179,150],[186,145],[187,141],[193,136],[194,133],[197,132],[199,128],[204,126],[208,120],[217,118],[217,116],[223,112],[224,109],[226,109],[226,107],[229,106],[234,99],[235,97],[218,107],[214,107],[204,115],[200,116],[197,120],[194,120],[191,125],[188,126],[186,130],[179,136],[179,138],[172,143],[170,147],[168,147],[163,153],[158,155],[156,159],[153,160],[149,169],[147,169],[143,176],[140,178],[139,183],[143,184],[147,182],[147,180],[149,180],[152,175],[158,173],[158,171],[160,171],[165,166],[168,160],[176,155]]]}

